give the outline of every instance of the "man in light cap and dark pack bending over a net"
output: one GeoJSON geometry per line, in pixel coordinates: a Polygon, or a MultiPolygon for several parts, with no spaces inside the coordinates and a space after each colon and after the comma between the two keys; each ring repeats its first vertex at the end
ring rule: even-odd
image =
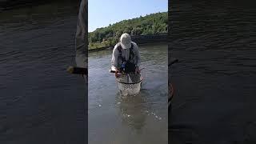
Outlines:
{"type": "Polygon", "coordinates": [[[122,73],[140,76],[140,63],[141,56],[137,44],[131,41],[130,34],[122,34],[120,42],[114,46],[112,55],[111,69],[115,71],[115,77],[119,78],[122,73]]]}

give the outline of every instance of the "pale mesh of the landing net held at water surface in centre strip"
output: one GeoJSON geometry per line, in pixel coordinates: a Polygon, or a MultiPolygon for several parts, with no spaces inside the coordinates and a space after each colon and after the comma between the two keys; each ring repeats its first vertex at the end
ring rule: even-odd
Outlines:
{"type": "Polygon", "coordinates": [[[141,90],[141,74],[122,74],[117,78],[118,89],[122,95],[136,95],[141,90]]]}

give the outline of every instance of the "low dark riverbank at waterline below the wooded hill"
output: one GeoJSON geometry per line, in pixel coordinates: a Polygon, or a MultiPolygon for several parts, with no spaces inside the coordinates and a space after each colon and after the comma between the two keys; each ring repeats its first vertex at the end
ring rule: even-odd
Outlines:
{"type": "MultiPolygon", "coordinates": [[[[168,34],[148,34],[148,35],[138,35],[132,36],[131,39],[133,42],[136,42],[140,46],[148,45],[148,44],[155,44],[155,43],[163,43],[167,42],[168,34]]],[[[114,46],[102,46],[96,48],[89,48],[88,51],[99,51],[99,50],[113,50],[114,46]]]]}

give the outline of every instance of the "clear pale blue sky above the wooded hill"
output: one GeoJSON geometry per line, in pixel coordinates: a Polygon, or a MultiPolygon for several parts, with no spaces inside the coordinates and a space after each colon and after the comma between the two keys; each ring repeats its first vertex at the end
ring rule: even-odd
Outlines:
{"type": "Polygon", "coordinates": [[[88,31],[168,10],[168,0],[88,0],[88,31]]]}

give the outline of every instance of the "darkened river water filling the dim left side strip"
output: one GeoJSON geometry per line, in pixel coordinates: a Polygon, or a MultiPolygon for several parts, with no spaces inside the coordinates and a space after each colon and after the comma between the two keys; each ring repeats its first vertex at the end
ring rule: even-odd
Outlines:
{"type": "Polygon", "coordinates": [[[0,13],[0,143],[86,143],[86,89],[74,64],[78,4],[0,13]]]}

